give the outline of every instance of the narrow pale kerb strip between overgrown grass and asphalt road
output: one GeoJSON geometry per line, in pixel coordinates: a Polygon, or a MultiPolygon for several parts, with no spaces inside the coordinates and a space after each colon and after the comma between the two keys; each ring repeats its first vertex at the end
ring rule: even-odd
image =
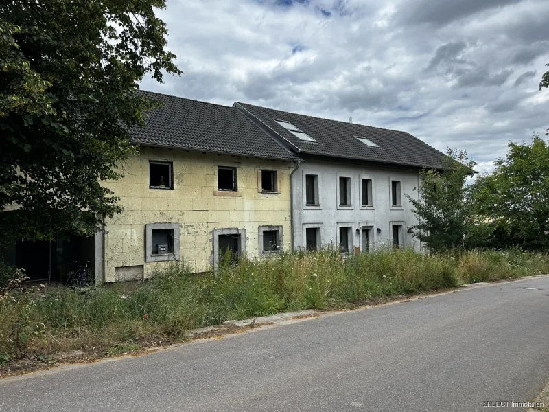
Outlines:
{"type": "MultiPolygon", "coordinates": [[[[198,328],[194,330],[190,330],[189,336],[200,336],[201,334],[205,334],[207,332],[213,332],[215,330],[222,330],[221,328],[223,325],[230,325],[233,327],[233,330],[226,330],[227,337],[230,337],[231,335],[240,334],[242,332],[253,332],[257,330],[264,330],[266,328],[272,328],[276,327],[278,325],[288,325],[291,323],[299,323],[303,321],[307,321],[310,319],[318,319],[320,317],[328,317],[328,316],[336,316],[338,314],[343,313],[349,313],[349,312],[358,312],[360,310],[369,310],[373,308],[380,308],[382,306],[389,306],[389,305],[395,305],[395,304],[401,304],[401,303],[407,303],[411,301],[417,301],[421,299],[428,299],[430,297],[436,297],[436,296],[443,296],[443,295],[449,295],[450,293],[459,293],[464,290],[473,290],[478,288],[485,288],[489,286],[495,286],[495,285],[501,285],[501,284],[511,284],[511,283],[517,283],[517,282],[524,282],[526,280],[532,280],[532,279],[540,279],[544,277],[549,277],[549,275],[535,275],[535,276],[526,276],[521,277],[520,279],[513,279],[513,280],[506,280],[506,281],[496,281],[496,282],[478,282],[474,284],[463,284],[458,286],[457,288],[453,288],[450,290],[445,290],[444,292],[437,292],[437,293],[430,293],[427,295],[414,295],[410,297],[406,297],[404,299],[397,299],[390,302],[386,302],[384,304],[375,304],[375,305],[366,305],[361,306],[359,308],[353,308],[349,310],[316,310],[316,309],[307,309],[307,310],[299,310],[297,312],[283,312],[278,314],[272,314],[270,316],[264,316],[264,317],[255,317],[250,319],[244,319],[241,321],[226,321],[222,323],[222,325],[215,325],[215,326],[207,326],[205,328],[198,328]]],[[[89,361],[85,363],[69,363],[65,365],[60,365],[56,367],[52,367],[50,369],[44,369],[40,371],[34,371],[30,372],[28,374],[21,374],[16,376],[7,376],[5,378],[0,378],[0,385],[5,385],[11,382],[19,382],[20,380],[26,380],[31,378],[38,378],[40,376],[48,376],[53,374],[58,374],[62,371],[69,371],[72,369],[79,369],[81,367],[88,367],[91,365],[97,365],[99,363],[108,363],[108,362],[115,362],[115,361],[121,361],[123,359],[128,358],[136,358],[137,356],[144,356],[148,354],[154,354],[158,352],[165,352],[167,350],[177,350],[178,348],[182,347],[183,345],[197,345],[199,343],[205,343],[209,341],[213,341],[215,339],[219,339],[219,336],[213,336],[213,337],[206,337],[206,338],[200,338],[198,337],[195,339],[192,339],[191,341],[185,341],[181,343],[174,343],[172,345],[164,346],[164,347],[149,347],[148,349],[145,349],[144,352],[139,352],[135,355],[121,355],[121,356],[113,356],[110,358],[102,358],[98,359],[97,361],[89,361]]]]}

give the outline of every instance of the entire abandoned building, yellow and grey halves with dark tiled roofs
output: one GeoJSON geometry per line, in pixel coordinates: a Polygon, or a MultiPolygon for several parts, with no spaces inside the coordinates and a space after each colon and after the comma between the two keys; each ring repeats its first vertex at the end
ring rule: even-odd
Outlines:
{"type": "Polygon", "coordinates": [[[139,154],[119,165],[124,176],[103,182],[124,211],[95,237],[3,251],[31,279],[64,282],[84,260],[101,284],[146,279],[172,262],[200,273],[326,244],[344,254],[421,249],[408,233],[417,223],[408,196],[445,155],[409,133],[139,93],[163,106],[132,133],[139,154]]]}

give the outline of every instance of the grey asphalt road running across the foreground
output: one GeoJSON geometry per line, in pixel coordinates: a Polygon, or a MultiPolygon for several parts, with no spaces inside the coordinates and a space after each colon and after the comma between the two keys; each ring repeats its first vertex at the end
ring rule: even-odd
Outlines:
{"type": "Polygon", "coordinates": [[[0,380],[0,410],[489,411],[548,378],[545,277],[0,380]]]}

